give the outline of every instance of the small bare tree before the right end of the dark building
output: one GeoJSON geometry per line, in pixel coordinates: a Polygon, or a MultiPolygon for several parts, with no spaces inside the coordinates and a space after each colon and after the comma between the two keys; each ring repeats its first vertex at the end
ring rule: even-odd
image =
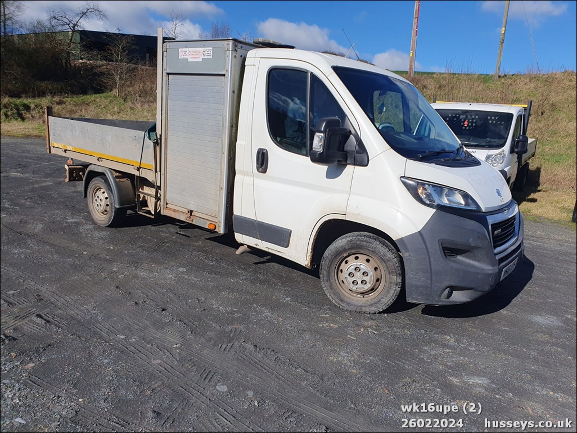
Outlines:
{"type": "Polygon", "coordinates": [[[113,89],[114,95],[126,100],[124,85],[128,82],[130,73],[136,67],[134,57],[130,51],[136,48],[134,46],[134,37],[130,35],[121,35],[119,33],[110,33],[108,35],[110,45],[104,52],[104,59],[109,62],[107,66],[107,84],[113,89]]]}

